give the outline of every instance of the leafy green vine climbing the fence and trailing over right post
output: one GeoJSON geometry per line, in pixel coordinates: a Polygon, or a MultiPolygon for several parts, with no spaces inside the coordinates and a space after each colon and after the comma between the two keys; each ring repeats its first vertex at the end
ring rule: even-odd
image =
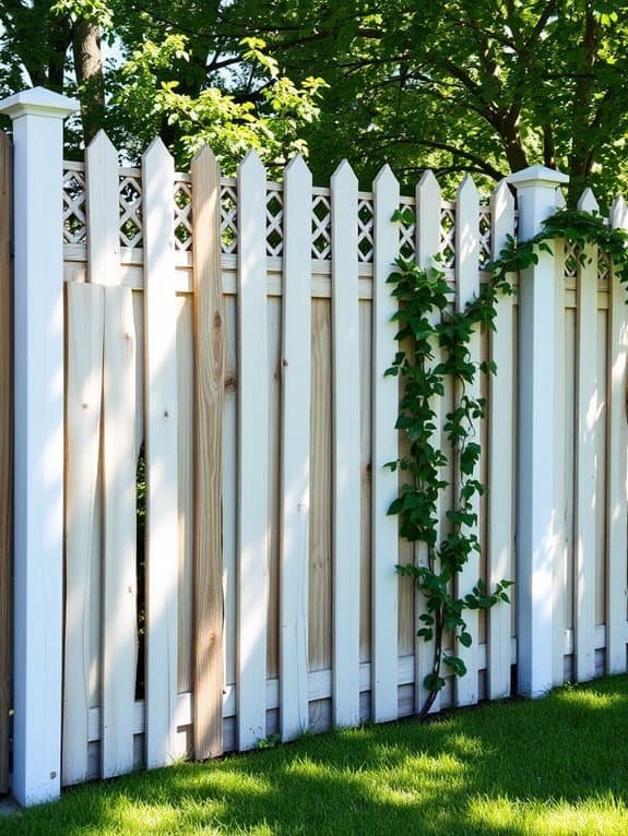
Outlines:
{"type": "MultiPolygon", "coordinates": [[[[412,223],[412,213],[398,212],[393,219],[412,223]]],[[[399,516],[400,535],[410,542],[425,545],[424,564],[398,565],[400,575],[413,578],[425,600],[418,635],[434,641],[430,672],[424,680],[428,692],[420,710],[424,718],[438,692],[445,685],[443,668],[462,677],[464,661],[458,655],[457,643],[472,644],[464,613],[466,610],[488,610],[499,601],[509,602],[511,581],[499,581],[488,590],[478,580],[471,594],[457,597],[455,578],[473,552],[479,552],[474,533],[477,524],[475,500],[486,491],[476,478],[481,456],[474,425],[485,416],[485,399],[470,393],[477,373],[497,371],[495,363],[476,363],[469,350],[476,327],[495,330],[496,306],[501,294],[512,294],[510,277],[536,264],[540,251],[550,252],[549,241],[564,238],[576,246],[577,258],[585,258],[584,247],[597,244],[614,266],[614,273],[628,283],[628,236],[624,230],[609,229],[597,215],[573,210],[561,210],[547,218],[542,231],[529,241],[507,239],[499,259],[485,266],[488,282],[481,285],[476,298],[463,310],[451,312],[448,304],[451,288],[445,274],[437,267],[423,270],[413,261],[399,258],[396,268],[389,276],[392,296],[398,301],[394,320],[399,323],[396,341],[399,351],[387,374],[402,381],[402,396],[396,429],[407,439],[407,453],[388,463],[392,470],[403,473],[405,479],[389,514],[399,516]],[[441,359],[435,361],[434,348],[440,348],[441,359]],[[437,399],[446,391],[446,379],[453,381],[458,394],[454,408],[447,413],[443,427],[447,452],[436,442],[437,399]],[[443,479],[445,467],[457,463],[458,479],[452,491],[451,507],[446,511],[449,530],[437,541],[439,518],[438,500],[449,488],[443,479]],[[447,634],[454,638],[454,650],[445,652],[447,634]]],[[[438,263],[438,262],[436,262],[438,263]]]]}

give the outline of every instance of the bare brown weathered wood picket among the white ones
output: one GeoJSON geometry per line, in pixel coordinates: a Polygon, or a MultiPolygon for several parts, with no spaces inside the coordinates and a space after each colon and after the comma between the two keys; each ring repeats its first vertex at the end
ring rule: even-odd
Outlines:
{"type": "Polygon", "coordinates": [[[222,470],[225,311],[221,171],[204,147],[192,162],[194,282],[194,754],[223,752],[222,470]]]}

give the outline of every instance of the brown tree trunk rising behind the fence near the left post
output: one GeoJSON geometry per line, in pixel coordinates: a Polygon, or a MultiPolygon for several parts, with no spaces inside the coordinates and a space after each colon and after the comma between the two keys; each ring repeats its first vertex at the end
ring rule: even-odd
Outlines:
{"type": "Polygon", "coordinates": [[[98,26],[78,20],[72,32],[85,146],[105,123],[105,79],[98,26]]]}

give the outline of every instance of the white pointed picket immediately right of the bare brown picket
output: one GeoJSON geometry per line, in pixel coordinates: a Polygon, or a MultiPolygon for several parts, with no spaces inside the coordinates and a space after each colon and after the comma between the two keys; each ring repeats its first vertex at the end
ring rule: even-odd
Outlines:
{"type": "Polygon", "coordinates": [[[269,599],[266,178],[254,153],[238,170],[238,748],[265,737],[269,599]]]}

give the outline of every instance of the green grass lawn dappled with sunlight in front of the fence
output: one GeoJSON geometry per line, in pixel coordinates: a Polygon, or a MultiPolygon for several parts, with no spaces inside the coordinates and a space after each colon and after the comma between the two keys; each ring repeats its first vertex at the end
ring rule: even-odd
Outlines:
{"type": "Polygon", "coordinates": [[[68,790],[0,834],[628,834],[628,677],[68,790]]]}

